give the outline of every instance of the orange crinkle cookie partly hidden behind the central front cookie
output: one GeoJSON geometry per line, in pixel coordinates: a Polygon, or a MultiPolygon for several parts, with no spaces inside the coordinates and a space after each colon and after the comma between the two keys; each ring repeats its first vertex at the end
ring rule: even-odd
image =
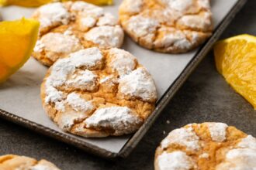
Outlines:
{"type": "Polygon", "coordinates": [[[47,66],[79,49],[119,48],[123,44],[123,29],[116,17],[86,2],[43,5],[34,12],[33,19],[41,25],[32,56],[47,66]]]}

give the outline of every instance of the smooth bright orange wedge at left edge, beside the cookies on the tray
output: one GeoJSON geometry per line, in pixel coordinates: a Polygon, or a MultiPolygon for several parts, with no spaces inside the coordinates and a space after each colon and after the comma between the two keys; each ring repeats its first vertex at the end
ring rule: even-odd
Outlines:
{"type": "Polygon", "coordinates": [[[39,26],[33,19],[0,22],[0,83],[29,59],[39,26]]]}

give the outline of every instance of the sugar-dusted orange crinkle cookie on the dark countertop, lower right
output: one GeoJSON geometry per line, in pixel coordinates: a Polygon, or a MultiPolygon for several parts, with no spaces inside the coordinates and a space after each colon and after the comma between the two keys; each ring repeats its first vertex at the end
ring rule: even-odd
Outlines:
{"type": "Polygon", "coordinates": [[[189,124],[157,148],[156,170],[256,169],[256,138],[223,123],[189,124]]]}

